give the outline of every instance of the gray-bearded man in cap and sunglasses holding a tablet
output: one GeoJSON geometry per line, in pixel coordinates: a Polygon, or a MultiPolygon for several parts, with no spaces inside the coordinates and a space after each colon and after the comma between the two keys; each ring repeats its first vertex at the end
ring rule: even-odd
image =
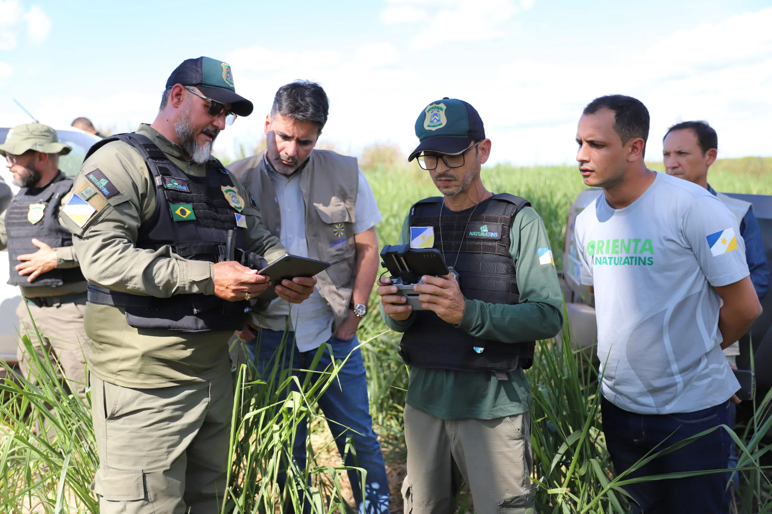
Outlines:
{"type": "MultiPolygon", "coordinates": [[[[212,142],[252,103],[231,67],[188,59],[151,125],[94,145],[60,220],[90,282],[86,333],[100,512],[218,512],[233,383],[228,340],[286,249],[212,142]]],[[[300,303],[313,278],[276,284],[300,303]]]]}

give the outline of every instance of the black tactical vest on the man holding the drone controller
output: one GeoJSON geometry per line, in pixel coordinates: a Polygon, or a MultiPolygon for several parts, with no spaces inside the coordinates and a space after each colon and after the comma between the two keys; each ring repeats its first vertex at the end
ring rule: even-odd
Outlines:
{"type": "MultiPolygon", "coordinates": [[[[510,256],[510,226],[513,216],[530,202],[507,193],[494,195],[479,203],[471,219],[472,207],[459,212],[444,208],[440,227],[442,202],[442,196],[435,196],[416,203],[410,211],[410,226],[434,227],[434,247],[442,250],[444,243],[445,264],[453,267],[456,263],[454,269],[459,272],[465,298],[516,305],[520,291],[510,256]]],[[[478,339],[432,311],[416,311],[415,321],[402,335],[399,346],[409,366],[492,371],[506,380],[504,373],[530,368],[535,342],[478,339]]]]}

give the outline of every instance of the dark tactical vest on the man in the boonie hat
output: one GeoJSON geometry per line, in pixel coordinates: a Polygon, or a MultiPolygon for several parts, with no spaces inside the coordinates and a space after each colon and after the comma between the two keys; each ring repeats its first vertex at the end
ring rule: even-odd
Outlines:
{"type": "Polygon", "coordinates": [[[33,237],[52,248],[73,246],[73,234],[59,225],[59,206],[63,196],[70,189],[73,189],[73,179],[68,179],[62,172],[42,188],[19,189],[8,207],[8,212],[5,213],[10,264],[8,284],[23,288],[58,288],[63,284],[86,280],[80,272],[80,267],[55,268],[40,274],[32,282],[27,281],[29,275],[19,276],[19,271],[14,269],[16,264],[19,264],[19,255],[34,254],[39,250],[32,244],[33,237]]]}

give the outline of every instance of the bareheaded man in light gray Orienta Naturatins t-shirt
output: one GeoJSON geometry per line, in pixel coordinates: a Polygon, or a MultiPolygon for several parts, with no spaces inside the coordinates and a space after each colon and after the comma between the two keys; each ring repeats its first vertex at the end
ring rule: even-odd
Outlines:
{"type": "MultiPolygon", "coordinates": [[[[728,423],[740,385],[721,347],[761,311],[735,216],[705,189],[646,168],[648,123],[640,101],[613,95],[588,104],[577,129],[584,183],[603,189],[574,230],[582,283],[594,288],[603,429],[618,473],[728,423]]],[[[726,468],[729,447],[718,429],[631,477],[726,468]]],[[[625,488],[633,512],[729,512],[727,476],[625,488]]]]}

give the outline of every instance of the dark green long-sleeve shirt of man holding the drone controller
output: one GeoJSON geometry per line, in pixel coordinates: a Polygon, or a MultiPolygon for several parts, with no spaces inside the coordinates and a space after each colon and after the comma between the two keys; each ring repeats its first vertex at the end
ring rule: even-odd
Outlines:
{"type": "MultiPolygon", "coordinates": [[[[398,244],[409,241],[408,219],[402,225],[398,244]]],[[[510,228],[510,255],[517,270],[520,303],[491,304],[466,300],[459,328],[480,339],[524,342],[554,337],[563,325],[563,298],[557,273],[550,259],[541,264],[539,249],[550,247],[547,230],[536,213],[525,207],[514,216],[510,228]]],[[[545,259],[542,259],[545,260],[545,259]]],[[[415,318],[398,322],[381,316],[392,330],[405,332],[415,318]]],[[[493,373],[452,369],[410,369],[408,404],[445,420],[476,418],[489,420],[528,410],[530,387],[522,368],[497,380],[493,373]]]]}

